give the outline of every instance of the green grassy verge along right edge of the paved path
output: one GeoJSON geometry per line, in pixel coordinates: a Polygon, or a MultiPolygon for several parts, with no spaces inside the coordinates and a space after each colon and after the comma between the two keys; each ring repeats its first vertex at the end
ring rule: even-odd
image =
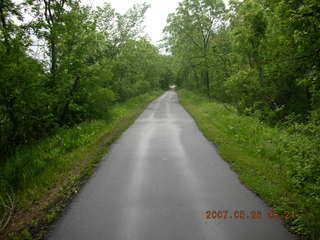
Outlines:
{"type": "Polygon", "coordinates": [[[179,99],[240,180],[279,213],[294,211],[289,228],[320,239],[319,138],[272,128],[230,105],[187,90],[179,99]]]}

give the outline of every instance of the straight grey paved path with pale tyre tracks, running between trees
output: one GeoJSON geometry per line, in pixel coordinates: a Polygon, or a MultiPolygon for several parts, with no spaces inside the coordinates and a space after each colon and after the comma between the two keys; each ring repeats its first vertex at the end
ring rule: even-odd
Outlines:
{"type": "Polygon", "coordinates": [[[244,187],[178,103],[155,100],[116,141],[53,226],[57,240],[291,240],[279,220],[206,220],[270,210],[244,187]],[[237,212],[236,212],[237,213],[237,212]]]}

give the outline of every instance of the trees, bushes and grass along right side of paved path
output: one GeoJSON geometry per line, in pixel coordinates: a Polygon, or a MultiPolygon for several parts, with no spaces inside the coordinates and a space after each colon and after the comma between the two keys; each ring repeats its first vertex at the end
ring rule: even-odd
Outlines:
{"type": "Polygon", "coordinates": [[[295,209],[292,229],[315,240],[319,10],[316,0],[183,0],[164,30],[176,84],[191,91],[182,103],[245,184],[282,212],[295,209]]]}

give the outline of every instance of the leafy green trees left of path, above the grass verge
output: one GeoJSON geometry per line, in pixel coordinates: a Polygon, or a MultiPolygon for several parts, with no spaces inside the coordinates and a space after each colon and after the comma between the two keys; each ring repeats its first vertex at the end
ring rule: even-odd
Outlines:
{"type": "Polygon", "coordinates": [[[0,165],[17,146],[164,88],[166,56],[143,37],[148,5],[124,14],[77,0],[0,5],[0,165]]]}

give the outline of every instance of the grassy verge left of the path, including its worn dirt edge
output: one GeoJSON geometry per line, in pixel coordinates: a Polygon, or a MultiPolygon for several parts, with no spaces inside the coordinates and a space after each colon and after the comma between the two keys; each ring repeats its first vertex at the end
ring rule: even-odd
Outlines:
{"type": "MultiPolygon", "coordinates": [[[[1,199],[6,201],[9,193],[14,199],[16,212],[21,215],[18,217],[26,217],[27,221],[36,223],[29,225],[43,222],[43,213],[29,216],[30,219],[24,216],[32,215],[28,213],[28,208],[37,204],[41,205],[38,208],[43,208],[38,211],[47,211],[45,222],[52,222],[64,207],[63,199],[77,192],[82,179],[91,175],[95,163],[108,150],[108,145],[132,123],[147,103],[161,93],[147,93],[115,105],[108,120],[89,121],[73,128],[60,129],[50,137],[21,147],[0,169],[1,199]]],[[[2,214],[6,213],[1,207],[0,210],[2,214]]],[[[25,226],[12,226],[20,224],[19,219],[14,217],[8,228],[16,227],[22,233],[17,239],[23,239],[29,232],[25,226]]],[[[25,223],[22,221],[21,224],[25,223]]]]}

